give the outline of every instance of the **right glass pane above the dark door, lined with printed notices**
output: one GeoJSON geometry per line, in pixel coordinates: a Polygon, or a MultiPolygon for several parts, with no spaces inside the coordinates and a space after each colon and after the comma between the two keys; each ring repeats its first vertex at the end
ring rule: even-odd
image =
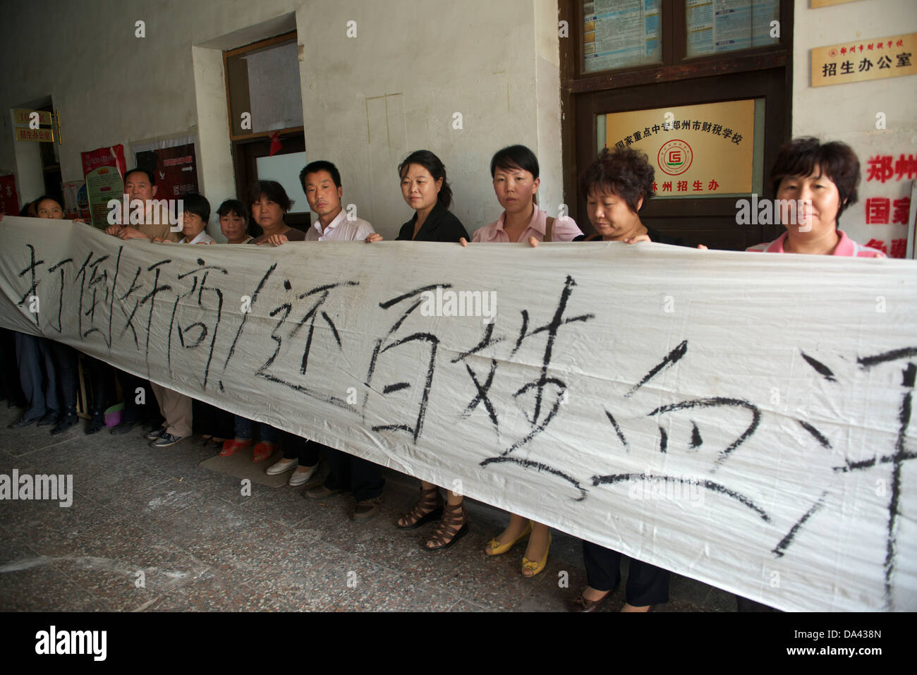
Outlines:
{"type": "Polygon", "coordinates": [[[779,44],[779,0],[684,0],[685,57],[779,44]]]}

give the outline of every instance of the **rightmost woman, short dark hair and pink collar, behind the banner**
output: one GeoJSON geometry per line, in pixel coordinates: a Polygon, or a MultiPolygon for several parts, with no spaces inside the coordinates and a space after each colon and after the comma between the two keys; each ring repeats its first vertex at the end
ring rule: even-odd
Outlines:
{"type": "Polygon", "coordinates": [[[793,208],[776,211],[787,228],[779,238],[747,250],[768,253],[812,253],[853,258],[885,258],[877,249],[857,244],[837,229],[837,219],[856,204],[859,160],[846,143],[795,138],[780,148],[770,172],[778,200],[793,208]]]}

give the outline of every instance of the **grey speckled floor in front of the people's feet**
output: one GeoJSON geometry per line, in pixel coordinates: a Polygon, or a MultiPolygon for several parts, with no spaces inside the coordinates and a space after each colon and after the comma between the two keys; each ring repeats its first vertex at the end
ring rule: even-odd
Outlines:
{"type": "MultiPolygon", "coordinates": [[[[7,429],[18,416],[0,404],[0,473],[72,474],[74,494],[68,508],[0,502],[0,611],[551,612],[585,585],[580,542],[562,533],[535,579],[519,572],[521,547],[485,556],[505,515],[481,503],[469,504],[467,537],[426,553],[432,526],[392,526],[415,487],[390,471],[381,515],[355,523],[346,496],[257,483],[243,495],[238,479],[198,466],[212,450],[193,441],[157,450],[139,431],[85,436],[84,422],[59,437],[7,429]]],[[[623,602],[618,591],[602,611],[623,602]]],[[[734,609],[731,594],[674,575],[657,608],[734,609]]]]}

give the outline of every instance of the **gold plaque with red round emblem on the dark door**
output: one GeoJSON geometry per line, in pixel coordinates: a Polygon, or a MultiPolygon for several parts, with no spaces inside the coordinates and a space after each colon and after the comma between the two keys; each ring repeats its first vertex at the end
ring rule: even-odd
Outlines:
{"type": "Polygon", "coordinates": [[[600,145],[645,152],[656,170],[657,197],[760,192],[756,103],[746,99],[609,113],[603,116],[600,145]]]}

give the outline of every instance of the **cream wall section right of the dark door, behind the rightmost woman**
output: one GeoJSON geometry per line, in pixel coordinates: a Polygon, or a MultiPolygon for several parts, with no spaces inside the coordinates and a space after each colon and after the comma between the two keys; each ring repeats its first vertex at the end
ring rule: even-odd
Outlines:
{"type": "Polygon", "coordinates": [[[876,155],[893,155],[896,160],[901,153],[917,155],[917,75],[812,88],[810,50],[917,32],[917,2],[856,0],[810,9],[809,0],[796,0],[794,21],[793,136],[843,140],[859,156],[859,203],[841,216],[847,234],[863,244],[876,238],[887,246],[892,239],[906,238],[903,225],[866,225],[868,197],[900,199],[911,190],[908,180],[867,183],[867,162],[876,155]],[[878,112],[886,115],[884,130],[876,128],[878,112]]]}

